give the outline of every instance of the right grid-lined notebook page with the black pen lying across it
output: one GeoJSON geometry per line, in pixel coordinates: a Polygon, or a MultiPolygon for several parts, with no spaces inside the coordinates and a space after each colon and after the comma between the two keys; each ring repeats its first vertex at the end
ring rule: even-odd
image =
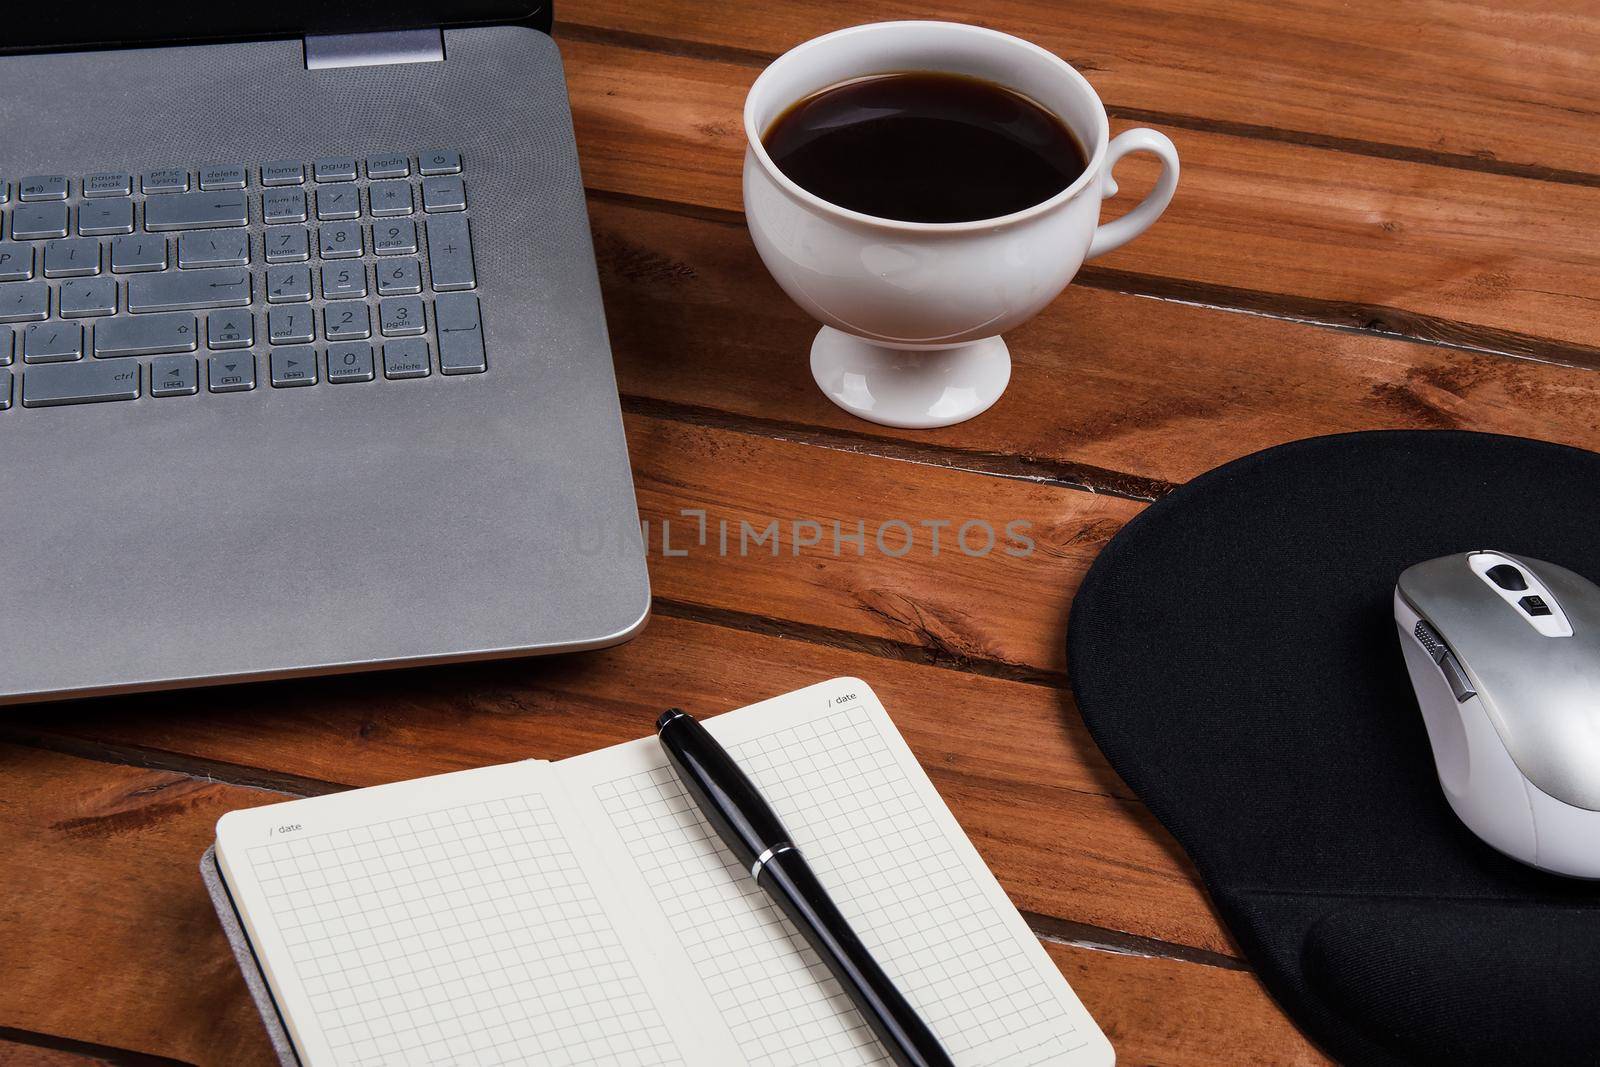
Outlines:
{"type": "MultiPolygon", "coordinates": [[[[882,725],[893,731],[886,717],[882,725]]],[[[1037,941],[1027,934],[1019,944],[989,896],[998,886],[987,872],[987,891],[974,877],[938,817],[949,814],[942,805],[930,806],[867,709],[811,713],[738,744],[722,739],[957,1064],[1059,1064],[1102,1045],[1093,1024],[1080,1033],[1064,1017],[1058,989],[1066,984],[1053,966],[1056,981],[1042,977],[1030,955],[1040,952],[1037,941]]],[[[898,736],[894,742],[904,752],[898,736]]],[[[909,752],[904,760],[922,776],[909,752]]],[[[747,1062],[890,1062],[842,987],[739,869],[670,768],[594,789],[747,1062]]],[[[965,835],[960,846],[971,849],[965,835]]],[[[981,864],[974,853],[971,859],[981,864]]],[[[1008,901],[1003,907],[1014,918],[1008,901]]]]}

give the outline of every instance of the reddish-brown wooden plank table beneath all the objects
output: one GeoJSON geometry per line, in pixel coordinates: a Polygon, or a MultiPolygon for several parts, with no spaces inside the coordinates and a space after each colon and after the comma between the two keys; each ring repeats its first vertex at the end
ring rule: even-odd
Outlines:
{"type": "MultiPolygon", "coordinates": [[[[1146,502],[1267,445],[1368,427],[1600,445],[1600,16],[1547,6],[563,2],[653,622],[597,654],[11,712],[0,1059],[269,1062],[195,872],[229,808],[558,758],[648,733],[670,701],[717,712],[851,673],[1122,1064],[1322,1062],[1083,731],[1067,606],[1146,502]],[[1184,160],[1166,216],[1010,336],[1005,398],[936,432],[821,397],[814,326],[739,214],[757,70],[901,16],[1054,50],[1114,131],[1157,126],[1184,160]],[[1037,550],[835,555],[827,530],[800,555],[666,555],[683,509],[845,533],[1021,518],[1037,550]]],[[[1154,168],[1118,178],[1131,202],[1154,168]]]]}

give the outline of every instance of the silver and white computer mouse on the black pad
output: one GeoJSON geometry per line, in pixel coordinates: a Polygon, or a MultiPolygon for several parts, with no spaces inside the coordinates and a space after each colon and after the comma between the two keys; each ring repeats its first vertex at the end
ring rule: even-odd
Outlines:
{"type": "Polygon", "coordinates": [[[1406,568],[1394,605],[1450,806],[1512,859],[1600,878],[1600,587],[1480,550],[1406,568]]]}

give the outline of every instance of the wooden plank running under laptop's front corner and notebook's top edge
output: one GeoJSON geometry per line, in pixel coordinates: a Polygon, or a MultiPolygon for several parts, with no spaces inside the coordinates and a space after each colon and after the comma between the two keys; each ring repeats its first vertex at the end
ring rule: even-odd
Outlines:
{"type": "Polygon", "coordinates": [[[1018,907],[1235,952],[1066,693],[850,648],[656,617],[602,653],[16,709],[3,729],[306,792],[562,758],[645,736],[672,704],[722,712],[840,675],[874,686],[1018,907]]]}

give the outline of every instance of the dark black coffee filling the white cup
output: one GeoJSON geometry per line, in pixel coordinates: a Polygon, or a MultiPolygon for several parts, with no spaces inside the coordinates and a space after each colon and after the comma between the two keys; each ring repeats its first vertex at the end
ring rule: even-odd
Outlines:
{"type": "Polygon", "coordinates": [[[1008,88],[958,74],[883,74],[794,104],[762,139],[790,181],[906,222],[992,219],[1083,174],[1077,138],[1008,88]]]}

